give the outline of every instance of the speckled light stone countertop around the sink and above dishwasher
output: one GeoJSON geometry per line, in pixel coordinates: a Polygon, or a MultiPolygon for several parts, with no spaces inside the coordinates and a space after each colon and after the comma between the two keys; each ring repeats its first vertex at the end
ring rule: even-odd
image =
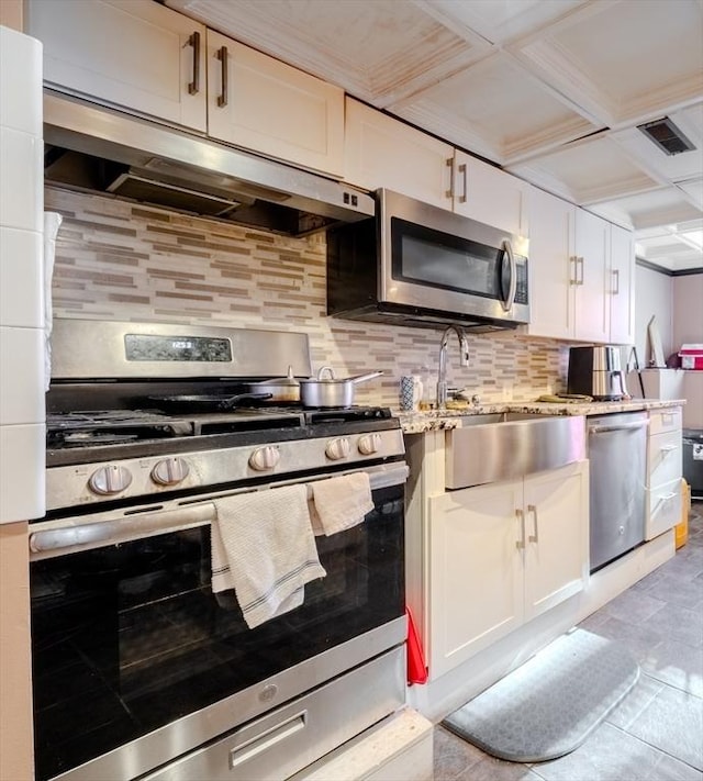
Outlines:
{"type": "Polygon", "coordinates": [[[461,428],[467,415],[488,415],[501,412],[523,412],[539,415],[604,415],[611,412],[637,412],[668,406],[682,406],[685,399],[631,399],[627,401],[591,401],[587,403],[511,401],[496,404],[468,404],[451,410],[404,412],[393,410],[404,434],[423,434],[444,428],[461,428]]]}

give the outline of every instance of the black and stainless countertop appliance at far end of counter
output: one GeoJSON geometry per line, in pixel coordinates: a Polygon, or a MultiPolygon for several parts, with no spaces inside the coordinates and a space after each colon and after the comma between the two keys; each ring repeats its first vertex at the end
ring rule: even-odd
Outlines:
{"type": "Polygon", "coordinates": [[[594,401],[621,401],[627,395],[621,369],[620,347],[570,347],[567,378],[569,393],[590,395],[594,401]]]}

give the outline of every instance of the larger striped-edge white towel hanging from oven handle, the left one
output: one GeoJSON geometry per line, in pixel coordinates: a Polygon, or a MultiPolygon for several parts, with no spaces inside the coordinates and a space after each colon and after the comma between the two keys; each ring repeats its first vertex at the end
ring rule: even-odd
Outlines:
{"type": "Polygon", "coordinates": [[[214,500],[212,590],[234,589],[247,626],[303,603],[304,584],[326,572],[310,525],[305,486],[214,500]]]}

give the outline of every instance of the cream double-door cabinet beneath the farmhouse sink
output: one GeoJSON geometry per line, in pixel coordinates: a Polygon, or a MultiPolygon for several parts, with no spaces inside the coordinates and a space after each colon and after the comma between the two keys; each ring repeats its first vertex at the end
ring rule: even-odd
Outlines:
{"type": "Polygon", "coordinates": [[[581,591],[588,461],[431,498],[431,679],[581,591]]]}

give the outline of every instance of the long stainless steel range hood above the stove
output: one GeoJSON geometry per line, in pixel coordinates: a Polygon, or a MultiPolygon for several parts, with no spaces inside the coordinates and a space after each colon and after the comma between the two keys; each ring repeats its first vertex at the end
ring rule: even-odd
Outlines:
{"type": "Polygon", "coordinates": [[[51,90],[44,142],[47,185],[295,236],[375,213],[337,181],[51,90]]]}

